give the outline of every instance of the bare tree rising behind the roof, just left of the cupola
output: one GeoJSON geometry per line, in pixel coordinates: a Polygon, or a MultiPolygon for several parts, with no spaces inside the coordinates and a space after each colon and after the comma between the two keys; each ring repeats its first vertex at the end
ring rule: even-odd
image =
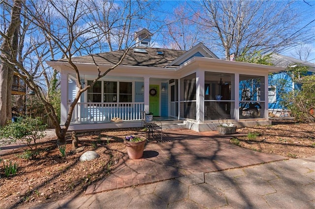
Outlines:
{"type": "Polygon", "coordinates": [[[151,16],[154,5],[155,1],[90,1],[90,19],[95,24],[93,33],[97,35],[88,53],[128,48],[134,38],[130,31],[143,27],[141,24],[151,16]]]}

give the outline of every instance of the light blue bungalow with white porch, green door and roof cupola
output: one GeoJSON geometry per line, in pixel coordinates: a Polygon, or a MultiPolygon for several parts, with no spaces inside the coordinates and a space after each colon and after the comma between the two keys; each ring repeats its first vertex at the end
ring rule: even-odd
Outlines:
{"type": "MultiPolygon", "coordinates": [[[[194,131],[216,130],[219,119],[239,127],[268,125],[268,74],[281,67],[219,59],[199,43],[189,51],[151,48],[152,34],[135,33],[137,46],[85,92],[69,130],[141,127],[141,111],[182,120],[194,131]],[[123,122],[111,122],[119,117],[123,122]]],[[[73,57],[84,84],[116,64],[125,50],[73,57]],[[95,63],[97,65],[95,65],[95,63]]],[[[47,61],[61,73],[61,123],[77,92],[65,60],[47,61]]]]}

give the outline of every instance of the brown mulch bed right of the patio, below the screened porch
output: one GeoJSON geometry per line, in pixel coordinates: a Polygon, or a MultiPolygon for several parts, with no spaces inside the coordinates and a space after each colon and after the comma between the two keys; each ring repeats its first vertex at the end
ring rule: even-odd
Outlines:
{"type": "Polygon", "coordinates": [[[244,133],[230,140],[240,147],[289,158],[315,156],[315,124],[290,120],[273,121],[271,126],[238,129],[244,133]]]}

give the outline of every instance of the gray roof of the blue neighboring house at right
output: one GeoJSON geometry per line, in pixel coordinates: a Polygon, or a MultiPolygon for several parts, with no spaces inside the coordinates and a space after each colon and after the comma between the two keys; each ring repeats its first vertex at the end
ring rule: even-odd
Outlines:
{"type": "Polygon", "coordinates": [[[299,59],[295,59],[293,57],[289,57],[289,56],[284,56],[281,54],[272,54],[271,55],[271,62],[277,66],[277,67],[288,67],[290,65],[294,65],[297,63],[303,64],[305,66],[309,66],[313,69],[315,69],[315,64],[311,63],[311,62],[305,62],[299,59]]]}

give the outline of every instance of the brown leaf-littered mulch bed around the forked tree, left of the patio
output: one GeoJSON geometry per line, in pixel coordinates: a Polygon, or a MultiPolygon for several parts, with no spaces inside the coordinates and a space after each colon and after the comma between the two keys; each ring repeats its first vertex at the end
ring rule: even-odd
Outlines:
{"type": "Polygon", "coordinates": [[[71,135],[67,136],[66,156],[62,157],[56,145],[54,131],[39,140],[40,157],[35,160],[23,159],[27,147],[1,155],[0,162],[0,208],[29,207],[60,198],[84,194],[91,183],[110,175],[119,160],[126,155],[123,138],[136,134],[138,129],[108,130],[78,133],[79,146],[84,152],[94,150],[99,158],[80,162],[84,152],[71,151],[71,135]],[[6,178],[3,162],[17,163],[18,172],[6,178]]]}

